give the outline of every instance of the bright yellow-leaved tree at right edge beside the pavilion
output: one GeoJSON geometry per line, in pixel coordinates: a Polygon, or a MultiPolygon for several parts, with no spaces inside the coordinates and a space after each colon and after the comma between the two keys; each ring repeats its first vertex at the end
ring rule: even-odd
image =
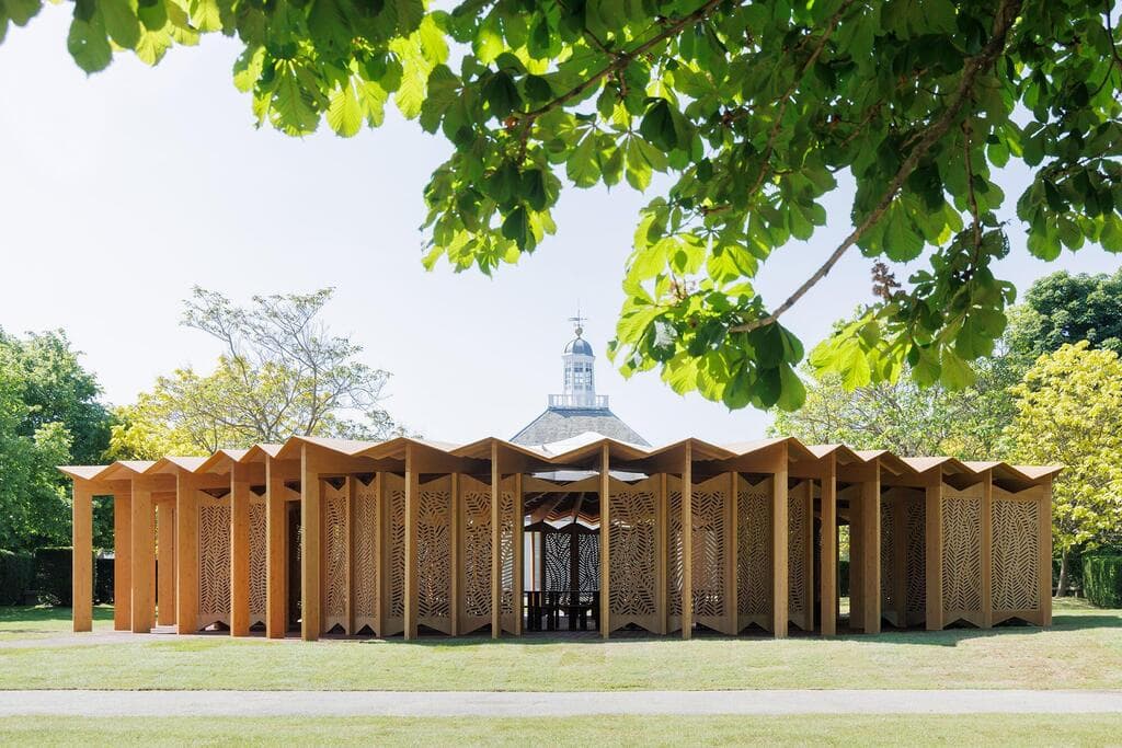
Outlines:
{"type": "Polygon", "coordinates": [[[1064,465],[1052,490],[1064,594],[1074,548],[1122,538],[1122,361],[1086,341],[1065,344],[1041,355],[1013,394],[1010,456],[1064,465]]]}

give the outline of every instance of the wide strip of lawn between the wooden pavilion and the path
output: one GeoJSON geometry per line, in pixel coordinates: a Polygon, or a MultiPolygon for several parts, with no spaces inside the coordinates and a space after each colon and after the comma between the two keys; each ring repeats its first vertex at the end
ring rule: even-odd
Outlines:
{"type": "MultiPolygon", "coordinates": [[[[25,628],[36,626],[56,630],[53,621],[25,628]]],[[[89,645],[0,646],[0,689],[1122,689],[1122,611],[1066,601],[1057,604],[1049,630],[607,643],[537,637],[301,643],[171,635],[96,641],[94,635],[89,645]]]]}

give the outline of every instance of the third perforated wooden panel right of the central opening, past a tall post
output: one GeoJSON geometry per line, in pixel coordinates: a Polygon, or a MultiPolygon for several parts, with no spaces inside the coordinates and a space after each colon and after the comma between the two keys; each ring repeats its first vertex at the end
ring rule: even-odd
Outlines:
{"type": "Polygon", "coordinates": [[[693,616],[698,624],[721,630],[725,627],[725,582],[727,569],[726,497],[729,479],[717,475],[695,483],[693,509],[693,616]]]}

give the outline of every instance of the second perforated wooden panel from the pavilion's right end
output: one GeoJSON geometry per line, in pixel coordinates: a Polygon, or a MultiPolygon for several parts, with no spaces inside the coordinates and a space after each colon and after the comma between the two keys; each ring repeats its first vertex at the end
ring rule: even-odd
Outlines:
{"type": "Polygon", "coordinates": [[[942,486],[944,622],[982,626],[982,483],[942,486]]]}

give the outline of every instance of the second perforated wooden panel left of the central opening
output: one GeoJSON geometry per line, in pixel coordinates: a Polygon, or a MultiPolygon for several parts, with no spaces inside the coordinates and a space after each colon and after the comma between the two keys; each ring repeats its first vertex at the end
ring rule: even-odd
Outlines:
{"type": "Polygon", "coordinates": [[[460,632],[470,634],[491,620],[490,484],[460,477],[460,632]]]}

